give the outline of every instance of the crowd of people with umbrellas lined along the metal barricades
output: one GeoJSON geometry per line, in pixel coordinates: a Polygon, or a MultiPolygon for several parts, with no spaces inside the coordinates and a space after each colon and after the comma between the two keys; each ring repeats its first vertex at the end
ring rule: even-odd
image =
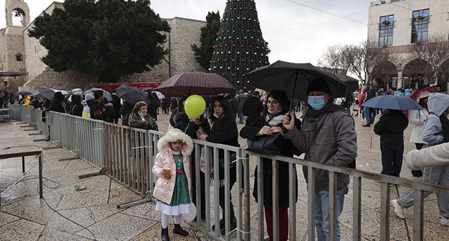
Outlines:
{"type": "MultiPolygon", "coordinates": [[[[404,90],[404,96],[411,94],[413,90],[404,90]]],[[[398,93],[398,92],[396,92],[398,93]]],[[[229,93],[218,96],[203,96],[207,103],[204,114],[197,118],[190,118],[185,109],[186,98],[167,97],[159,100],[154,93],[146,92],[149,100],[140,101],[135,105],[120,101],[116,92],[113,92],[113,101],[108,102],[104,98],[102,90],[93,91],[86,95],[72,95],[70,98],[64,96],[61,92],[55,93],[52,101],[48,99],[25,98],[24,105],[41,107],[44,114],[48,110],[94,118],[110,123],[119,123],[122,119],[122,125],[130,127],[158,130],[157,114],[159,107],[162,108],[162,114],[170,114],[170,128],[158,143],[158,150],[153,167],[154,174],[159,178],[156,182],[154,196],[157,198],[156,210],[162,211],[162,240],[169,240],[168,234],[168,216],[175,216],[175,229],[173,233],[188,235],[180,227],[180,215],[190,212],[188,204],[192,201],[196,204],[197,192],[200,192],[201,202],[205,201],[204,183],[207,171],[200,173],[200,190],[196,190],[192,183],[198,182],[194,173],[200,163],[192,162],[195,159],[194,147],[191,139],[205,140],[211,143],[219,143],[240,147],[238,136],[248,140],[258,140],[262,136],[271,136],[280,134],[283,136],[280,145],[280,155],[282,156],[300,156],[305,154],[305,160],[312,160],[318,163],[337,165],[339,167],[355,167],[355,158],[357,156],[357,142],[355,130],[355,116],[361,112],[366,120],[366,125],[374,125],[374,133],[380,136],[381,147],[381,174],[397,176],[401,174],[403,163],[404,140],[403,132],[408,125],[413,125],[410,142],[415,143],[417,149],[426,149],[441,143],[449,142],[449,120],[446,117],[449,112],[449,97],[446,94],[423,92],[417,103],[421,105],[421,110],[410,110],[405,115],[401,110],[394,109],[373,109],[363,108],[361,105],[370,98],[385,94],[395,94],[393,91],[384,91],[382,88],[373,90],[367,86],[363,88],[361,94],[358,91],[347,93],[344,101],[337,103],[333,100],[332,92],[329,89],[327,81],[316,78],[307,86],[307,100],[294,100],[292,105],[287,94],[283,90],[269,92],[248,91],[245,93],[240,90],[238,94],[229,93]],[[354,107],[352,107],[354,105],[354,107]],[[353,113],[351,113],[351,107],[353,113]],[[296,111],[302,109],[303,112],[298,118],[296,111]],[[374,124],[376,115],[381,115],[374,124]],[[240,133],[238,131],[240,126],[240,133]],[[206,173],[204,173],[206,172],[206,173]]],[[[203,151],[200,151],[203,153],[203,151]]],[[[218,160],[212,160],[219,163],[218,176],[220,183],[219,205],[222,213],[229,212],[229,222],[231,229],[236,229],[236,216],[233,211],[233,203],[230,209],[225,209],[225,169],[229,168],[229,183],[232,189],[238,179],[236,165],[236,153],[232,152],[230,156],[230,166],[225,167],[223,160],[225,151],[218,151],[218,160]]],[[[449,156],[449,154],[448,154],[449,156]]],[[[263,179],[263,196],[258,196],[258,180],[256,178],[253,196],[256,202],[263,200],[265,209],[265,221],[267,224],[267,233],[272,240],[273,236],[273,214],[274,201],[272,200],[273,188],[277,188],[280,196],[279,205],[279,224],[280,240],[288,239],[288,208],[290,191],[294,190],[292,195],[297,200],[298,197],[298,177],[296,169],[293,176],[289,176],[289,164],[280,162],[278,171],[285,173],[279,175],[277,187],[272,185],[271,159],[262,158],[263,167],[261,169],[263,179]],[[293,187],[290,187],[293,185],[293,187]]],[[[448,165],[438,167],[425,167],[423,170],[413,171],[414,176],[422,176],[423,182],[443,185],[449,180],[448,165]]],[[[257,171],[257,169],[256,169],[257,171]]],[[[307,182],[309,176],[307,167],[303,167],[303,174],[307,182]]],[[[328,240],[329,238],[329,178],[327,171],[315,169],[315,226],[318,240],[328,240]]],[[[255,173],[254,176],[257,176],[255,173]]],[[[240,177],[241,178],[241,177],[240,177]]],[[[345,194],[348,192],[350,178],[347,174],[337,174],[336,187],[336,235],[340,240],[341,229],[338,217],[343,210],[345,194]]],[[[381,184],[377,182],[376,184],[381,184]]],[[[410,189],[403,193],[397,200],[392,200],[391,205],[399,218],[405,218],[403,208],[413,205],[414,190],[410,189]]],[[[428,196],[430,192],[425,192],[428,196]]],[[[449,197],[438,195],[438,204],[441,214],[441,224],[449,226],[449,197]]],[[[204,219],[207,211],[204,205],[200,210],[204,219]]],[[[225,234],[225,215],[220,222],[212,229],[220,229],[220,233],[225,234]]]]}

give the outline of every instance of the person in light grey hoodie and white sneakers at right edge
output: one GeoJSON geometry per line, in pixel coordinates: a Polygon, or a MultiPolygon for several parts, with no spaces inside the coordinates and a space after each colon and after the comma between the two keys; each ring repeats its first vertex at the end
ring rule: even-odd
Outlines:
{"type": "MultiPolygon", "coordinates": [[[[428,98],[428,116],[423,127],[423,149],[449,142],[449,96],[441,93],[432,93],[428,98]]],[[[449,187],[448,165],[439,167],[426,167],[423,171],[422,182],[443,185],[449,187]]],[[[423,198],[432,194],[424,191],[423,198]]],[[[449,226],[449,196],[437,193],[438,208],[441,214],[440,224],[449,226]]],[[[414,189],[408,189],[399,198],[391,200],[394,213],[398,218],[405,218],[403,208],[412,207],[414,204],[414,189]]]]}

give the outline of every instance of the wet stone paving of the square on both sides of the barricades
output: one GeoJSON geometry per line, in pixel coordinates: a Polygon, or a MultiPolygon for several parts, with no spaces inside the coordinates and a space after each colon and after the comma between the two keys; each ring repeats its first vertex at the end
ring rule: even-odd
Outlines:
{"type": "MultiPolygon", "coordinates": [[[[298,113],[299,114],[299,113],[298,113]]],[[[168,117],[160,115],[157,121],[160,130],[166,130],[168,117]]],[[[379,116],[377,116],[379,118],[379,116]]],[[[360,116],[355,117],[358,134],[359,156],[357,169],[381,171],[379,136],[372,127],[361,127],[360,116]]],[[[239,129],[243,125],[238,124],[239,129]]],[[[26,136],[40,139],[43,136],[28,136],[17,123],[0,123],[2,136],[26,136]]],[[[414,149],[409,143],[411,127],[405,131],[405,152],[414,149]]],[[[240,138],[242,147],[246,141],[240,138]]],[[[36,142],[40,147],[48,142],[36,142]]],[[[98,170],[81,159],[58,161],[60,157],[72,156],[64,149],[44,151],[44,198],[40,200],[37,187],[37,160],[26,157],[26,173],[21,173],[21,158],[0,160],[0,240],[160,240],[160,212],[154,211],[153,202],[128,209],[116,209],[116,205],[131,200],[140,200],[133,191],[123,187],[107,176],[79,179],[81,174],[98,170]],[[84,191],[75,191],[75,185],[87,185],[84,191]],[[56,213],[48,207],[57,210],[56,213]],[[73,222],[87,227],[92,233],[73,222]]],[[[254,173],[255,159],[251,158],[251,171],[254,173]]],[[[296,235],[297,240],[307,240],[307,189],[300,167],[298,169],[300,197],[297,202],[296,235]]],[[[405,166],[403,178],[414,178],[405,166]]],[[[417,179],[417,178],[414,178],[417,179]]],[[[251,184],[254,177],[251,178],[251,184]]],[[[371,180],[363,180],[362,233],[363,240],[380,240],[380,186],[371,180]]],[[[252,191],[252,185],[251,185],[252,191]]],[[[392,187],[391,198],[403,193],[405,187],[392,187]]],[[[251,237],[256,240],[258,223],[256,202],[251,197],[251,237]]],[[[391,240],[412,240],[412,209],[405,210],[405,220],[394,217],[390,209],[391,240]]],[[[172,223],[172,220],[169,221],[172,223]]],[[[171,235],[171,240],[211,240],[209,236],[182,224],[191,235],[187,238],[171,235]]],[[[170,228],[171,229],[171,228],[170,228]]],[[[352,189],[345,197],[345,208],[341,214],[342,240],[352,240],[352,189]]],[[[424,208],[424,239],[447,240],[449,227],[439,224],[437,198],[434,194],[426,198],[424,208]]],[[[235,235],[233,236],[235,238],[235,235]]]]}

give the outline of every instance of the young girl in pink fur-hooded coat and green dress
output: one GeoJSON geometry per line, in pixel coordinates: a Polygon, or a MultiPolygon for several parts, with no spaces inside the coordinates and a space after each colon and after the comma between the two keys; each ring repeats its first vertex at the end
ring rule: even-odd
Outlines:
{"type": "Polygon", "coordinates": [[[153,196],[157,198],[156,210],[162,211],[162,240],[169,241],[169,215],[175,216],[173,233],[182,236],[189,232],[181,228],[182,213],[190,213],[190,160],[193,142],[180,129],[171,129],[157,142],[153,174],[157,178],[153,196]]]}

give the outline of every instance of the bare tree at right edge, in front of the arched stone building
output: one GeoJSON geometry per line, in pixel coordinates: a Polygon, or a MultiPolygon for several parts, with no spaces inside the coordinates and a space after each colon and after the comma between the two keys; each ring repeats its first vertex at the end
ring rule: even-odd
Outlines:
{"type": "Polygon", "coordinates": [[[448,71],[449,59],[447,34],[428,36],[427,42],[410,45],[410,67],[426,76],[428,83],[437,81],[440,72],[448,71]]]}

